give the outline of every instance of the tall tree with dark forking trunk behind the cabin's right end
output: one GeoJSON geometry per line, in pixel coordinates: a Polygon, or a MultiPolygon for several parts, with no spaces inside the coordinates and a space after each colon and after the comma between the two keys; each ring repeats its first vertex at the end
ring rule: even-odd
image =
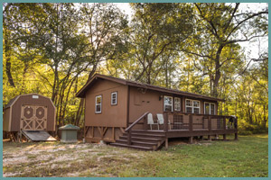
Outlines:
{"type": "Polygon", "coordinates": [[[237,4],[194,4],[198,24],[184,51],[210,65],[211,95],[218,96],[221,69],[239,60],[238,42],[266,36],[268,10],[241,12],[237,4]],[[205,59],[205,60],[204,60],[205,59]]]}

